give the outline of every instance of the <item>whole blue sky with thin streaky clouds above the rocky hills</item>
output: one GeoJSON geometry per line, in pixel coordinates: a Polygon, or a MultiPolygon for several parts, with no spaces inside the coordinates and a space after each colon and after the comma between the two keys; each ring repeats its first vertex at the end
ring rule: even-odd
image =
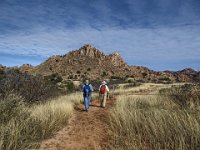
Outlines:
{"type": "Polygon", "coordinates": [[[200,70],[199,0],[0,0],[0,64],[36,66],[91,44],[129,65],[200,70]]]}

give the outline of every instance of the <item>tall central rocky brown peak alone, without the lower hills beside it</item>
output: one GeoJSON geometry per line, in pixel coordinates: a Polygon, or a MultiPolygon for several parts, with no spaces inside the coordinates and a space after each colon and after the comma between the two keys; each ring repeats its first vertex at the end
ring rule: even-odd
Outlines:
{"type": "Polygon", "coordinates": [[[112,76],[124,77],[131,71],[117,52],[105,55],[87,44],[66,55],[52,56],[29,72],[43,75],[59,73],[68,79],[101,79],[112,76]]]}

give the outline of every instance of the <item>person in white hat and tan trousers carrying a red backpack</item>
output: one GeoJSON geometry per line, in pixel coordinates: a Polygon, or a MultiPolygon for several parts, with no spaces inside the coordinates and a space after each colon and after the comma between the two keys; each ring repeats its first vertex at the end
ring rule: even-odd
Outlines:
{"type": "Polygon", "coordinates": [[[99,96],[100,96],[100,106],[105,108],[106,99],[108,96],[109,88],[106,85],[106,81],[103,81],[99,87],[99,96]]]}

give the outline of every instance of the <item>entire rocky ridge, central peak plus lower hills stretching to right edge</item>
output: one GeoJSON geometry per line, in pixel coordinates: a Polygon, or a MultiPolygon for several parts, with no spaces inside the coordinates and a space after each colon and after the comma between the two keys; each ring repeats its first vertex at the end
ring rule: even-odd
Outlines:
{"type": "MultiPolygon", "coordinates": [[[[5,67],[0,66],[0,70],[5,67]]],[[[21,72],[48,76],[59,74],[64,79],[134,79],[144,82],[200,81],[200,72],[191,68],[181,71],[157,72],[143,66],[129,66],[119,53],[105,55],[89,44],[65,55],[52,56],[42,64],[33,67],[22,65],[21,72]]]]}

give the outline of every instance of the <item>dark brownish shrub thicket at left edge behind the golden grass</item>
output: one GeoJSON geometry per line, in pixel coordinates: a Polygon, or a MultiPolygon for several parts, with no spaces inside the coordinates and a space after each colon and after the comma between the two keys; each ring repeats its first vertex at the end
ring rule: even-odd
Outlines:
{"type": "Polygon", "coordinates": [[[5,79],[0,81],[0,97],[4,99],[9,93],[18,93],[28,102],[48,99],[58,94],[56,85],[46,82],[42,76],[32,76],[10,70],[5,79]]]}

